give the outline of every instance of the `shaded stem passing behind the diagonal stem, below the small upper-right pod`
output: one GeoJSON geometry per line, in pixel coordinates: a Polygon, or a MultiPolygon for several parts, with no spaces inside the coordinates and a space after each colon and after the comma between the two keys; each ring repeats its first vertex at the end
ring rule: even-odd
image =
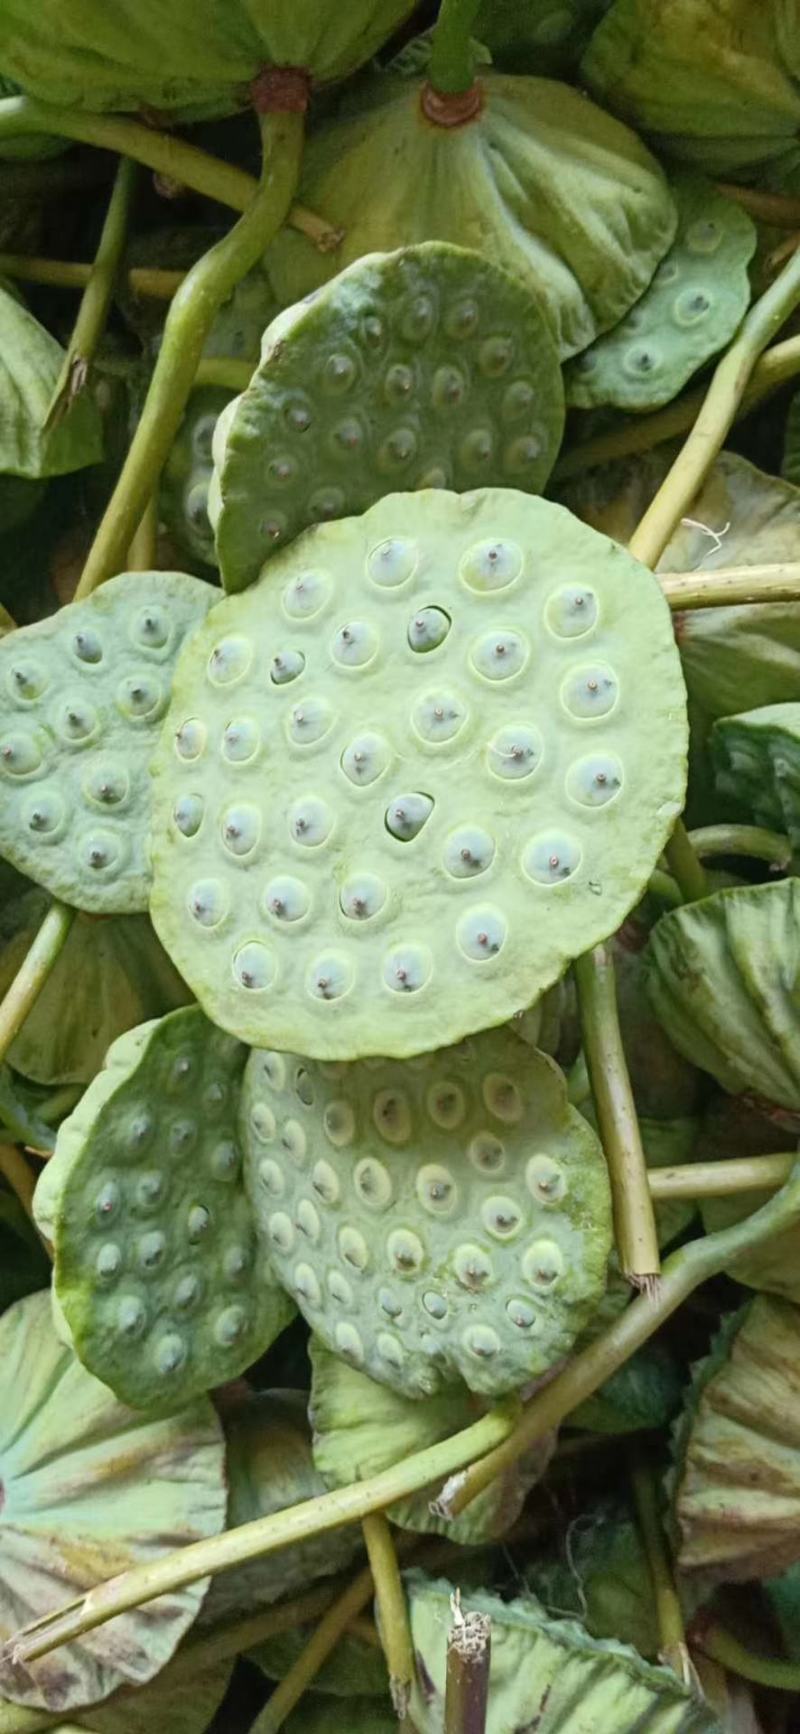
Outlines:
{"type": "MultiPolygon", "coordinates": [[[[793,380],[797,373],[800,373],[800,336],[788,336],[783,343],[772,343],[753,368],[746,392],[738,404],[736,420],[748,414],[755,404],[760,404],[770,392],[776,392],[779,385],[793,380]]],[[[571,475],[597,470],[602,463],[613,463],[616,458],[632,458],[639,451],[652,451],[652,446],[661,446],[663,440],[685,434],[694,427],[698,413],[703,409],[705,395],[703,390],[687,392],[685,397],[679,397],[666,409],[658,409],[651,416],[626,416],[621,427],[611,428],[607,434],[597,434],[595,439],[581,440],[581,444],[573,446],[571,451],[559,458],[554,480],[566,482],[571,475]]]]}

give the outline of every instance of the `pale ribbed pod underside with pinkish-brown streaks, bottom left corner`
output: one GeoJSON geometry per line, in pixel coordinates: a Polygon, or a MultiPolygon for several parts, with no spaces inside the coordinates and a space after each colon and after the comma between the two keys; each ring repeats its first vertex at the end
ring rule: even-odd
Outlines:
{"type": "MultiPolygon", "coordinates": [[[[175,1536],[191,1543],[224,1529],[224,1441],[208,1399],[168,1420],[132,1415],[57,1340],[47,1294],[3,1313],[0,1387],[3,1640],[71,1594],[153,1562],[175,1536]],[[142,1484],[146,1498],[135,1491],[142,1484]]],[[[9,1644],[3,1698],[64,1717],[118,1685],[144,1685],[174,1654],[207,1588],[208,1580],[187,1583],[30,1665],[9,1644]]]]}

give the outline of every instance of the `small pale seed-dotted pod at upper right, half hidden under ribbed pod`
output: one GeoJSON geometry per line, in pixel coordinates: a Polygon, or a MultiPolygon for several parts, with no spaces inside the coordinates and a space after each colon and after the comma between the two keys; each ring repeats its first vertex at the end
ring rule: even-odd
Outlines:
{"type": "Polygon", "coordinates": [[[725,349],[750,303],[755,224],[701,175],[677,175],[677,236],[639,302],[567,368],[567,402],[658,409],[725,349]]]}

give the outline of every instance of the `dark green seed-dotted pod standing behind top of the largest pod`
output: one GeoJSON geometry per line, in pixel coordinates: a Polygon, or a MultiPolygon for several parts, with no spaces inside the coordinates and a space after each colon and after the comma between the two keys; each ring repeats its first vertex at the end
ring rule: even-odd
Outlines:
{"type": "Polygon", "coordinates": [[[559,352],[526,286],[441,241],[359,258],[278,314],[217,423],[222,583],[243,590],[309,524],[397,487],[540,492],[562,430],[559,352]]]}

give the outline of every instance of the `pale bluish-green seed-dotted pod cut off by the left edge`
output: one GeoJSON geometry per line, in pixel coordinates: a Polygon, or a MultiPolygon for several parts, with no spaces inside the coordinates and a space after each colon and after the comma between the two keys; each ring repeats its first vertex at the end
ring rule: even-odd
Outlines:
{"type": "Polygon", "coordinates": [[[148,909],[148,763],[215,595],[184,572],[123,572],[0,642],[0,853],[76,909],[148,909]]]}

